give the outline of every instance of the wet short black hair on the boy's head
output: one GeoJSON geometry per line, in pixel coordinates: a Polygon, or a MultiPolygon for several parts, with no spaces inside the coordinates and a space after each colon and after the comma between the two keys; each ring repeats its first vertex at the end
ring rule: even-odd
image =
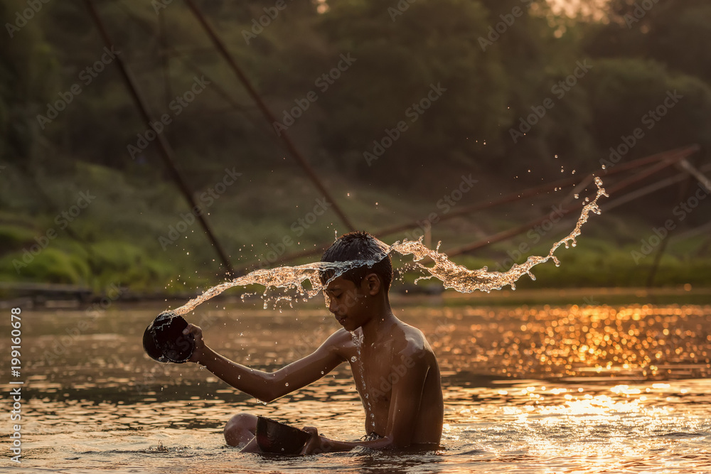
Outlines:
{"type": "MultiPolygon", "coordinates": [[[[321,262],[350,262],[353,260],[375,260],[373,266],[363,265],[350,269],[341,276],[343,279],[353,281],[358,286],[365,276],[374,273],[380,278],[385,294],[390,290],[392,283],[392,260],[387,249],[390,248],[385,242],[376,239],[368,232],[356,231],[341,235],[333,242],[331,247],[326,249],[321,257],[321,262]]],[[[334,274],[333,270],[321,271],[321,283],[326,284],[334,274]]]]}

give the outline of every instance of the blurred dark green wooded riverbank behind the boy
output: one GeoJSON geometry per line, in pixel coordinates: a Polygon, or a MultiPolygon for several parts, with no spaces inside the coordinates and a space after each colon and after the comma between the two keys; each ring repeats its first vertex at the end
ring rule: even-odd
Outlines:
{"type": "Polygon", "coordinates": [[[520,287],[709,287],[707,1],[6,0],[0,18],[4,297],[192,294],[355,229],[506,270],[572,230],[592,173],[602,215],[520,287]]]}

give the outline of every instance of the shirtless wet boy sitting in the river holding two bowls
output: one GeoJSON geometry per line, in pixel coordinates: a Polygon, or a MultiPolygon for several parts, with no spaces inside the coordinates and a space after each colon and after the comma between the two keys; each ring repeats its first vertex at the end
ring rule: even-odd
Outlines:
{"type": "MultiPolygon", "coordinates": [[[[262,402],[283,397],[324,377],[341,363],[350,362],[365,409],[365,439],[331,440],[319,436],[316,428],[306,427],[311,439],[301,454],[350,451],[355,446],[436,448],[442,436],[444,411],[439,366],[422,332],[402,323],[390,310],[387,293],[392,263],[390,255],[385,255],[387,248],[368,232],[351,232],[326,250],[322,262],[379,261],[370,267],[346,271],[326,286],[328,311],[343,328],[311,355],[277,372],[253,370],[208,348],[201,329],[191,324],[185,330],[193,334],[196,342],[190,361],[204,365],[232,387],[262,402]],[[361,360],[356,359],[354,337],[362,338],[361,360]],[[359,372],[361,363],[363,377],[359,372]]],[[[324,273],[321,279],[326,283],[332,276],[324,273]]],[[[258,452],[256,429],[256,416],[237,414],[225,426],[225,441],[230,446],[244,446],[242,451],[258,452]]]]}

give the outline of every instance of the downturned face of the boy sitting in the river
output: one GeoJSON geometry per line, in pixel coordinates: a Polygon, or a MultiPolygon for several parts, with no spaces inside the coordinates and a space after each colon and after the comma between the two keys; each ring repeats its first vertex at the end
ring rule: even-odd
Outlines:
{"type": "Polygon", "coordinates": [[[342,276],[326,286],[328,311],[348,331],[360,328],[373,316],[368,311],[367,287],[366,279],[363,279],[360,286],[356,286],[353,281],[343,279],[342,276]]]}

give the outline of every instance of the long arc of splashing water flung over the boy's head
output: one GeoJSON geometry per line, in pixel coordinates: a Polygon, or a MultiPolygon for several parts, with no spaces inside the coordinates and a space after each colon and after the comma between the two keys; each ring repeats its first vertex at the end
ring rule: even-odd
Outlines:
{"type": "MultiPolygon", "coordinates": [[[[515,289],[515,282],[520,279],[524,274],[528,274],[531,279],[535,280],[535,276],[531,273],[531,269],[538,264],[542,264],[551,260],[555,262],[556,266],[560,266],[560,262],[555,257],[554,253],[558,247],[565,245],[568,248],[571,244],[573,247],[577,244],[575,238],[580,235],[580,228],[587,222],[590,212],[595,214],[600,213],[600,209],[597,205],[597,200],[601,196],[608,197],[605,189],[602,187],[602,179],[595,178],[595,185],[597,186],[597,194],[593,200],[585,198],[585,204],[580,212],[580,217],[577,220],[575,228],[566,237],[555,242],[550,248],[545,256],[531,255],[528,259],[523,262],[523,264],[513,264],[508,271],[489,271],[486,266],[481,269],[470,270],[466,266],[461,266],[451,262],[447,254],[439,252],[439,245],[437,244],[436,249],[429,249],[422,243],[422,237],[419,240],[408,241],[405,239],[403,242],[395,242],[389,247],[385,245],[383,247],[383,253],[378,256],[377,259],[373,260],[356,260],[351,262],[314,262],[310,264],[297,265],[297,266],[279,266],[274,269],[258,269],[252,271],[250,274],[245,276],[238,276],[232,281],[225,281],[223,284],[213,286],[205,293],[200,296],[191,299],[185,303],[180,308],[173,310],[174,313],[181,315],[192,311],[193,308],[199,304],[207,301],[210,298],[218,296],[223,291],[232,288],[233,286],[247,286],[251,284],[260,284],[264,286],[263,297],[267,296],[267,291],[271,288],[279,289],[294,289],[296,291],[296,298],[313,298],[319,294],[324,289],[324,284],[321,283],[320,275],[324,271],[328,271],[332,274],[329,281],[335,279],[344,272],[353,269],[358,266],[372,266],[375,262],[385,257],[387,254],[392,254],[397,252],[403,256],[412,255],[413,264],[418,268],[426,272],[426,276],[419,277],[415,282],[421,279],[431,279],[432,277],[442,281],[444,288],[451,288],[459,291],[460,293],[472,293],[473,291],[485,291],[486,293],[491,290],[499,290],[504,286],[508,285],[511,289],[515,289]],[[425,259],[431,259],[434,265],[426,266],[422,263],[425,259]],[[308,281],[308,287],[304,287],[304,284],[308,281]]],[[[326,281],[328,284],[328,281],[326,281]]],[[[286,300],[289,301],[289,305],[292,304],[292,296],[279,296],[276,298],[274,304],[279,301],[286,300]]],[[[264,300],[264,308],[268,306],[268,300],[264,300]]]]}

